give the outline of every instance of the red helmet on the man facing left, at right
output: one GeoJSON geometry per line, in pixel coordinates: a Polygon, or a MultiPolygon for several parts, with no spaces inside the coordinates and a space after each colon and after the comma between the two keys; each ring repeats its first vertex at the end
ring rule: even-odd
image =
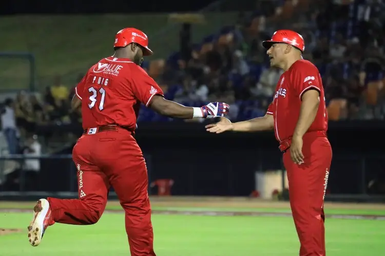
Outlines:
{"type": "Polygon", "coordinates": [[[262,46],[268,50],[277,42],[292,45],[301,52],[305,50],[305,42],[303,37],[293,30],[278,30],[274,32],[272,39],[263,41],[262,46]]]}

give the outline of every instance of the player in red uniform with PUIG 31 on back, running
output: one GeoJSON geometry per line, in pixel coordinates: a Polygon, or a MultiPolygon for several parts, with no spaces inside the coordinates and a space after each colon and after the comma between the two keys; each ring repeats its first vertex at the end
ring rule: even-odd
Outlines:
{"type": "Polygon", "coordinates": [[[148,177],[141,148],[134,139],[140,104],[174,118],[211,118],[228,113],[228,105],[212,102],[189,108],[166,100],[158,84],[140,67],[151,55],[148,38],[140,30],[117,33],[115,53],[93,65],[75,88],[72,108],[81,105],[84,133],[73,147],[78,169],[79,199],[37,201],[28,227],[29,242],[40,244],[47,227],[57,223],[91,225],[106,207],[110,186],[125,210],[131,255],[153,251],[148,177]]]}

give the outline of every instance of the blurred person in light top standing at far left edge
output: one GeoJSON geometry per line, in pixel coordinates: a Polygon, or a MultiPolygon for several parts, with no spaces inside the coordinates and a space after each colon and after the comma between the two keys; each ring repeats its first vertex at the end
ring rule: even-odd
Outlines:
{"type": "Polygon", "coordinates": [[[2,131],[8,143],[9,154],[17,154],[18,142],[17,142],[17,127],[16,118],[14,112],[13,100],[7,98],[2,108],[2,131]]]}

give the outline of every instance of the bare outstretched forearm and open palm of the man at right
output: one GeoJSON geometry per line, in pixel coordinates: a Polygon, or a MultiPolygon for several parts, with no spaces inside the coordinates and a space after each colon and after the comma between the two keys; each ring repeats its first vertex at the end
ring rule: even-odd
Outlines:
{"type": "Polygon", "coordinates": [[[227,118],[223,117],[217,123],[208,124],[205,126],[206,131],[210,133],[223,133],[226,131],[233,132],[258,132],[274,129],[273,115],[265,115],[263,117],[254,118],[242,122],[232,123],[227,118]]]}

